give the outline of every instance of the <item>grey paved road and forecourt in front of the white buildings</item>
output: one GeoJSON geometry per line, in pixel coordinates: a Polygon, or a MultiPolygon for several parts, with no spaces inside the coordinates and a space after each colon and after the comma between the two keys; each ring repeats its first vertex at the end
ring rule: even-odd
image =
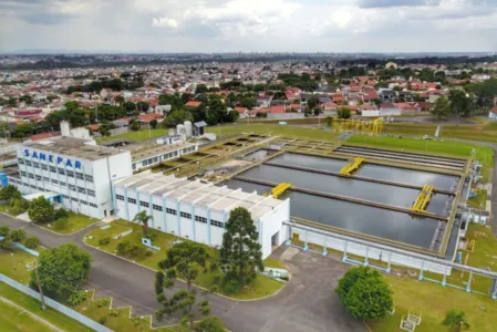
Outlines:
{"type": "MultiPolygon", "coordinates": [[[[6,215],[0,215],[0,225],[22,227],[29,235],[39,237],[45,247],[76,243],[93,256],[87,288],[96,289],[96,297],[112,295],[114,305],[133,305],[134,314],[153,314],[157,308],[154,272],[84,246],[82,237],[89,229],[72,236],[58,236],[6,215]]],[[[281,247],[275,257],[289,266],[293,274],[292,281],[277,295],[240,302],[200,294],[209,300],[213,314],[222,319],[228,329],[237,332],[366,331],[361,321],[344,311],[333,292],[336,280],[350,266],[296,248],[281,247]]]]}

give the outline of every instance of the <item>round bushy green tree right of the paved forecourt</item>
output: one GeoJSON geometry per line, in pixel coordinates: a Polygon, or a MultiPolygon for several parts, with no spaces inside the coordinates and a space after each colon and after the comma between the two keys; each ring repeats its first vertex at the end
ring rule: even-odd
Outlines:
{"type": "Polygon", "coordinates": [[[339,280],[336,293],[356,319],[384,318],[393,308],[392,291],[379,271],[358,267],[339,280]]]}

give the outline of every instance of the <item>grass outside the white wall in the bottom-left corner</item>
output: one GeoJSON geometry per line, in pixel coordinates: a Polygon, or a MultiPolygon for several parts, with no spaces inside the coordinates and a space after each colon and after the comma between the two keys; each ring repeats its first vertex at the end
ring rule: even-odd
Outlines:
{"type": "MultiPolygon", "coordinates": [[[[63,329],[65,331],[71,331],[71,332],[85,332],[85,331],[92,331],[91,329],[80,324],[79,322],[74,321],[73,319],[71,319],[70,317],[66,317],[62,313],[60,313],[59,311],[55,311],[51,308],[46,308],[45,311],[43,311],[41,309],[41,303],[40,301],[7,286],[3,282],[0,282],[0,294],[6,298],[9,299],[12,302],[15,302],[18,305],[21,305],[22,308],[24,308],[25,310],[41,317],[42,319],[49,321],[50,323],[59,326],[60,329],[63,329]]],[[[3,310],[0,310],[0,314],[3,313],[3,310]]],[[[15,315],[15,321],[24,321],[25,320],[25,314],[22,315],[22,319],[20,319],[20,315],[15,315]]],[[[2,323],[3,320],[0,315],[0,331],[12,331],[12,330],[2,330],[2,323]]],[[[39,323],[41,324],[41,323],[39,323]]],[[[13,330],[15,331],[15,330],[13,330]]],[[[22,330],[22,331],[46,331],[46,330],[22,330]]]]}

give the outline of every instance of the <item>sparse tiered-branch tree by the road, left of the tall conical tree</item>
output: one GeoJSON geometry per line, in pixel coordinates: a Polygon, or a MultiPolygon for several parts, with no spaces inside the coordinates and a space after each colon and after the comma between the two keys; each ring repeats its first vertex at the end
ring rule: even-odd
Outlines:
{"type": "MultiPolygon", "coordinates": [[[[166,276],[162,271],[155,276],[157,302],[163,305],[156,311],[158,320],[162,320],[164,314],[170,315],[176,311],[182,311],[182,323],[189,322],[190,330],[194,331],[195,313],[193,309],[196,304],[197,292],[193,282],[198,277],[198,268],[205,268],[207,257],[204,246],[190,241],[176,243],[167,251],[167,258],[158,263],[161,269],[167,269],[166,276]],[[164,293],[164,287],[170,289],[176,277],[186,281],[186,289],[177,291],[168,299],[164,293]]],[[[197,307],[203,315],[210,314],[208,301],[200,301],[197,307]]]]}

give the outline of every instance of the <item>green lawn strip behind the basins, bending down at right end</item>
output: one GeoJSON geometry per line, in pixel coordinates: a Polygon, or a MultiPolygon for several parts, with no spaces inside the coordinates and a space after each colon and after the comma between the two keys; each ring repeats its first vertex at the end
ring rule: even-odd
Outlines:
{"type": "Polygon", "coordinates": [[[475,148],[476,159],[482,162],[484,167],[484,181],[488,180],[490,168],[494,167],[494,151],[491,148],[468,143],[429,141],[421,138],[397,138],[385,136],[370,137],[359,135],[350,137],[346,142],[360,145],[389,147],[428,154],[452,155],[466,158],[470,156],[473,148],[475,148]]]}

